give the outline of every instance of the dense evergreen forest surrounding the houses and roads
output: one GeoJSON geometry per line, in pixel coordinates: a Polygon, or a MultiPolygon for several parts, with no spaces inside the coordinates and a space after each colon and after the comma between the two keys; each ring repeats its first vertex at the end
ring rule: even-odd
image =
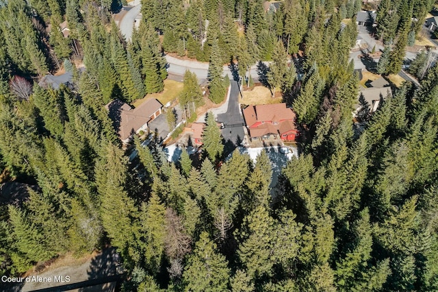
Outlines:
{"type": "MultiPolygon", "coordinates": [[[[420,86],[404,84],[357,127],[359,80],[348,59],[361,1],[286,0],[274,12],[261,0],[143,0],[130,42],[112,21],[121,5],[0,1],[0,182],[38,186],[0,206],[2,275],[112,245],[123,291],[438,290],[431,55],[413,64],[420,86]],[[276,186],[266,151],[253,162],[235,150],[222,164],[211,114],[196,167],[186,151],[170,163],[156,139],[143,147],[137,136],[129,160],[104,106],[162,91],[164,52],[210,62],[216,103],[228,82],[222,64],[246,77],[270,61],[260,81],[281,88],[302,133],[299,158],[276,186]],[[297,54],[302,78],[288,62],[297,54]],[[72,73],[73,88],[38,85],[59,69],[72,73]]],[[[381,73],[400,71],[432,6],[381,1],[381,73]]],[[[196,75],[186,73],[184,86],[183,106],[201,104],[196,75]]]]}

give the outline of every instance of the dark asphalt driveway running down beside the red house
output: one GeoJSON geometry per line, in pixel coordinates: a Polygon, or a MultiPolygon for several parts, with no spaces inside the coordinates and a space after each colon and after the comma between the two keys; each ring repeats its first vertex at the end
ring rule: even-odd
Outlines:
{"type": "Polygon", "coordinates": [[[225,128],[221,130],[222,137],[225,141],[225,154],[230,153],[242,143],[245,133],[244,119],[241,115],[239,99],[240,99],[240,89],[237,82],[231,80],[231,92],[229,97],[227,112],[223,114],[218,114],[218,121],[225,124],[225,128]],[[227,127],[228,125],[228,127],[227,127]]]}

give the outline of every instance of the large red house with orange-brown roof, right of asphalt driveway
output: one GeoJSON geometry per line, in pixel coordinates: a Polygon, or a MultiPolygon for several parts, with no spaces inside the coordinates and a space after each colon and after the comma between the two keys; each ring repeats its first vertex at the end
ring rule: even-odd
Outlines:
{"type": "Polygon", "coordinates": [[[281,138],[295,141],[295,113],[286,104],[263,104],[248,106],[243,110],[251,141],[281,138]]]}

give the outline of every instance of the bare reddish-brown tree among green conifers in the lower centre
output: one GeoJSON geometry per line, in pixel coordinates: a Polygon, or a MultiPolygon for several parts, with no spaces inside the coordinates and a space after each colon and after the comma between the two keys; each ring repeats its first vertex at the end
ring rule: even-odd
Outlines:
{"type": "Polygon", "coordinates": [[[175,210],[166,209],[166,239],[164,239],[165,251],[170,258],[183,258],[190,252],[192,239],[185,232],[181,223],[182,219],[175,210]]]}

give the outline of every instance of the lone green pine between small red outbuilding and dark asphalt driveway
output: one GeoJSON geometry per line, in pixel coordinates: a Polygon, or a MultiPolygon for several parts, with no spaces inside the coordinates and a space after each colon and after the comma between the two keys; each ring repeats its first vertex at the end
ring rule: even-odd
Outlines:
{"type": "Polygon", "coordinates": [[[224,151],[224,145],[222,144],[222,136],[219,127],[211,112],[207,114],[207,125],[203,133],[203,142],[205,151],[207,151],[210,160],[216,161],[220,159],[224,151]]]}

